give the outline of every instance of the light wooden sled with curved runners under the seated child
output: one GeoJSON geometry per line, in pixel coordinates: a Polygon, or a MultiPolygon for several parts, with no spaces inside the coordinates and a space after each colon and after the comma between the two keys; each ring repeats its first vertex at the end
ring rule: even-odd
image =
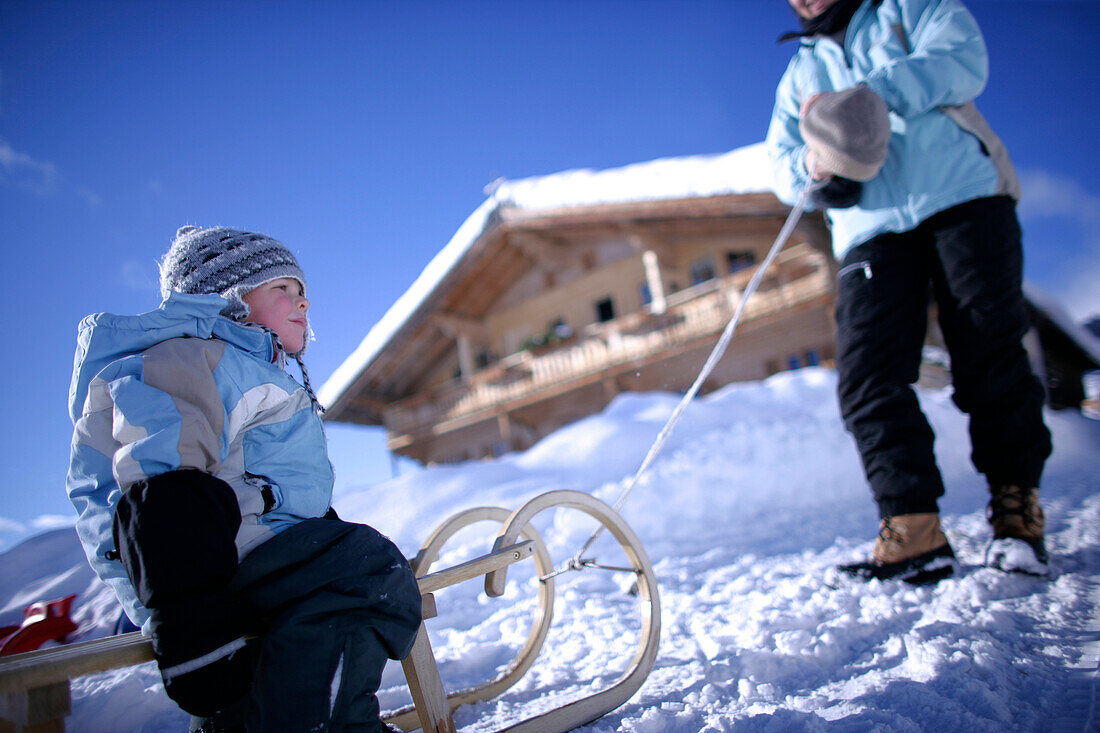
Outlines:
{"type": "MultiPolygon", "coordinates": [[[[404,731],[455,731],[452,718],[455,708],[499,696],[530,668],[542,648],[553,617],[556,573],[546,544],[529,523],[541,512],[559,507],[579,510],[596,518],[626,554],[629,567],[613,569],[632,572],[636,578],[641,613],[638,649],[626,671],[610,687],[508,725],[501,733],[563,733],[610,712],[638,691],[653,668],[660,638],[661,609],[653,568],[638,537],[612,507],[579,491],[551,491],[510,513],[497,507],[460,512],[441,524],[425,541],[411,565],[424,598],[426,620],[436,615],[435,591],[484,576],[485,592],[497,598],[504,593],[508,567],[527,558],[534,560],[541,579],[538,610],[526,643],[503,672],[483,685],[451,693],[443,689],[428,632],[421,623],[413,652],[402,660],[414,704],[388,715],[387,722],[404,731]],[[487,554],[454,567],[427,572],[443,545],[457,532],[486,521],[503,524],[487,554]]],[[[573,569],[591,565],[574,564],[573,569]]],[[[152,658],[152,645],[139,632],[4,657],[0,659],[0,733],[64,731],[65,716],[72,707],[69,681],[73,678],[152,658]]]]}

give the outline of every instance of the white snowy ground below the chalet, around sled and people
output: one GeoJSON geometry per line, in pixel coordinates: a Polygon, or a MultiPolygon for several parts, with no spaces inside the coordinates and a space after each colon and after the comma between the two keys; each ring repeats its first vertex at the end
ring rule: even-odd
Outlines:
{"type": "MultiPolygon", "coordinates": [[[[592,733],[781,730],[1074,730],[1096,725],[1090,707],[1100,658],[1100,422],[1047,413],[1055,453],[1043,482],[1049,579],[982,567],[989,539],[985,486],[968,462],[966,424],[947,392],[922,392],[948,485],[947,534],[964,566],[933,588],[873,582],[835,590],[822,580],[870,549],[877,516],[844,434],[825,370],[730,385],[696,401],[641,480],[624,516],[657,570],[662,637],[656,668],[592,733]]],[[[338,496],[342,516],[366,522],[408,554],[468,506],[519,506],[551,489],[613,502],[675,406],[669,394],[624,394],[525,453],[437,468],[338,496]]],[[[339,467],[338,467],[339,470],[339,467]]],[[[542,517],[540,517],[541,519],[542,517]]],[[[556,561],[593,524],[576,512],[539,529],[556,561]]],[[[481,553],[496,527],[455,537],[443,564],[481,553]]],[[[619,565],[601,539],[593,553],[619,565]]],[[[448,687],[485,680],[527,634],[535,581],[509,575],[504,599],[480,583],[438,594],[429,622],[448,687]]],[[[640,627],[623,573],[585,570],[559,579],[551,636],[535,668],[502,698],[461,709],[457,722],[490,731],[613,681],[640,627]]],[[[0,556],[0,624],[25,603],[79,592],[87,637],[118,613],[92,578],[70,530],[0,556]]],[[[408,700],[387,669],[384,708],[408,700]]],[[[186,730],[156,670],[74,683],[74,731],[186,730]]]]}

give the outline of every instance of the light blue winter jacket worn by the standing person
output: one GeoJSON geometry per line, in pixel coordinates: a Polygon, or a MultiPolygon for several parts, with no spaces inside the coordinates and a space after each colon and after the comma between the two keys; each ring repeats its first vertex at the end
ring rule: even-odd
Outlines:
{"type": "Polygon", "coordinates": [[[804,39],[779,83],[767,138],[776,194],[793,205],[809,180],[802,100],[858,84],[886,100],[892,135],[859,205],[827,211],[838,260],[877,234],[909,231],[937,211],[1001,193],[982,143],[944,109],[977,97],[987,72],[981,31],[958,0],[865,0],[844,47],[804,39]]]}

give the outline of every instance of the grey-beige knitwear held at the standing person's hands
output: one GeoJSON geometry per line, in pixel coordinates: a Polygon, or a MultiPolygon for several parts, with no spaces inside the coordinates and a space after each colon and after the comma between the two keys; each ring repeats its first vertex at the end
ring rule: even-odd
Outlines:
{"type": "Polygon", "coordinates": [[[799,130],[822,166],[845,178],[870,180],[887,161],[890,114],[882,97],[865,85],[823,94],[799,130]]]}

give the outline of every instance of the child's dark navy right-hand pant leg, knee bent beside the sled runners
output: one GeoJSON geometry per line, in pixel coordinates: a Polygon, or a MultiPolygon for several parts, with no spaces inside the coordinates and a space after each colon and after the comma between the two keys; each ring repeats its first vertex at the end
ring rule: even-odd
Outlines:
{"type": "Polygon", "coordinates": [[[405,557],[373,528],[307,519],[250,553],[229,588],[251,619],[254,665],[219,726],[382,731],[374,693],[386,659],[408,655],[420,592],[405,557]]]}

